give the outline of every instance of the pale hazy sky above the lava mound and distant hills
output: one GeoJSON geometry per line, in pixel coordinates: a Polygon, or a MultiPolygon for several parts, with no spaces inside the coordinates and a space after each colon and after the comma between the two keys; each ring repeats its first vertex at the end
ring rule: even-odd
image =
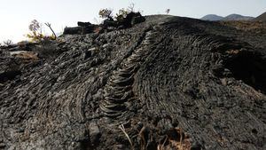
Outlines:
{"type": "MultiPolygon", "coordinates": [[[[56,32],[61,32],[79,20],[95,23],[101,8],[116,12],[131,3],[145,15],[165,13],[168,8],[172,15],[191,18],[231,13],[255,17],[266,12],[266,0],[0,0],[0,41],[25,39],[31,20],[50,22],[56,32]]],[[[44,28],[44,32],[50,31],[44,28]]]]}

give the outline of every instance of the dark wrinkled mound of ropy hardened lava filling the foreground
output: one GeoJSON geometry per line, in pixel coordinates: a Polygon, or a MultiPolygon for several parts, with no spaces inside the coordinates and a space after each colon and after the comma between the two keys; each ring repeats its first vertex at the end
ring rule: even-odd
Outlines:
{"type": "Polygon", "coordinates": [[[265,149],[265,41],[150,16],[45,51],[3,48],[0,149],[265,149]],[[9,56],[17,49],[41,54],[9,56]]]}

